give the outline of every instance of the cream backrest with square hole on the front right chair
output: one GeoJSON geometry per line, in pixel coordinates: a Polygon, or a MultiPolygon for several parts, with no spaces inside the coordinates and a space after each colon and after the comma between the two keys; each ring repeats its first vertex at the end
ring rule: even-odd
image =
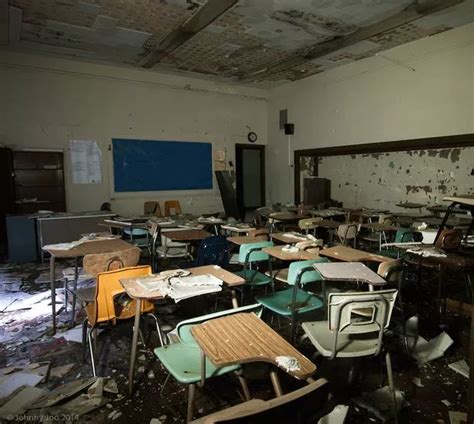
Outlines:
{"type": "Polygon", "coordinates": [[[367,334],[378,332],[379,353],[384,328],[390,324],[396,289],[372,292],[330,293],[328,296],[328,325],[335,333],[331,358],[337,354],[338,334],[367,334]],[[361,316],[357,310],[369,311],[361,316]]]}

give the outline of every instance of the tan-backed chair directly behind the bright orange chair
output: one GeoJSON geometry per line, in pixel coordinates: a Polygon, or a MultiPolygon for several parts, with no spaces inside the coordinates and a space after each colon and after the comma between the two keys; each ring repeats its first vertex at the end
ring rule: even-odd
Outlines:
{"type": "MultiPolygon", "coordinates": [[[[92,253],[82,259],[82,272],[78,270],[78,279],[96,279],[97,275],[104,271],[118,268],[132,267],[140,260],[140,249],[132,247],[118,252],[92,253]]],[[[68,280],[65,283],[66,293],[72,294],[72,323],[76,319],[76,299],[85,305],[95,299],[95,284],[89,287],[77,288],[77,281],[74,278],[74,287],[68,288],[68,280]]]]}

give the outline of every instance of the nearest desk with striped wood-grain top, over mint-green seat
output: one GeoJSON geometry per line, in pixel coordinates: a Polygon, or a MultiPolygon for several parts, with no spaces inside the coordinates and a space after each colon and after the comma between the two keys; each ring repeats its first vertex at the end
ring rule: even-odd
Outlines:
{"type": "MultiPolygon", "coordinates": [[[[311,376],[316,371],[316,366],[308,358],[253,313],[239,313],[206,321],[193,327],[191,333],[201,347],[202,384],[205,381],[206,356],[218,367],[267,362],[298,380],[308,382],[312,381],[311,376]],[[278,361],[278,357],[282,356],[295,358],[299,367],[285,369],[278,361]]],[[[275,395],[281,396],[283,393],[275,370],[270,372],[270,378],[275,395]]]]}

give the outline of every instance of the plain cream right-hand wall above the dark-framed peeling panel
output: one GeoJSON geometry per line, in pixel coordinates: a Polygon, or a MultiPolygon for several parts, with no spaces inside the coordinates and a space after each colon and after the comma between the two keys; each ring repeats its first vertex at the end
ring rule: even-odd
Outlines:
{"type": "Polygon", "coordinates": [[[269,200],[294,197],[280,109],[295,124],[293,150],[474,133],[473,43],[470,24],[383,53],[396,64],[367,58],[273,89],[269,200]]]}

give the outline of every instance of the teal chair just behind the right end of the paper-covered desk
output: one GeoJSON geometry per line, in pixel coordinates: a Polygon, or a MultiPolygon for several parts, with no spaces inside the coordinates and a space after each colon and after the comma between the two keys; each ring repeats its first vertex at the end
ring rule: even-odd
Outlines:
{"type": "MultiPolygon", "coordinates": [[[[268,253],[262,251],[265,247],[273,246],[271,241],[260,241],[256,243],[247,243],[242,244],[239,249],[239,263],[243,265],[241,271],[235,272],[245,280],[245,285],[242,287],[242,297],[244,293],[245,286],[251,287],[252,289],[257,286],[267,286],[268,284],[273,283],[273,279],[259,272],[256,269],[252,269],[252,265],[258,264],[258,262],[268,261],[269,267],[271,269],[271,261],[268,253]]],[[[241,303],[242,303],[241,299],[241,303]]]]}

